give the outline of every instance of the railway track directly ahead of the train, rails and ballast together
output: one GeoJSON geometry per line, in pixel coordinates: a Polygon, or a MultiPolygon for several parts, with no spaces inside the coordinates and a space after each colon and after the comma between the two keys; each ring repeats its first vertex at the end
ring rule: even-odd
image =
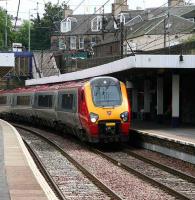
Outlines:
{"type": "Polygon", "coordinates": [[[92,150],[176,198],[195,199],[195,177],[193,176],[136,154],[126,146],[123,151],[114,153],[105,153],[99,149],[92,150]]]}

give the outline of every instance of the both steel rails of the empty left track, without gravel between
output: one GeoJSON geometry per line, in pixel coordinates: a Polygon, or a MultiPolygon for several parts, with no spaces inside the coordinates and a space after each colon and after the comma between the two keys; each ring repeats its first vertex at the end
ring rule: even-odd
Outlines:
{"type": "MultiPolygon", "coordinates": [[[[101,192],[104,193],[104,196],[100,197],[100,199],[113,199],[113,200],[121,200],[122,198],[117,195],[114,191],[112,191],[110,188],[108,188],[104,183],[102,183],[98,178],[96,178],[92,173],[88,171],[88,169],[84,168],[81,164],[79,164],[74,158],[72,158],[70,155],[68,155],[57,143],[54,141],[51,141],[50,139],[40,135],[38,132],[29,130],[28,128],[22,127],[20,125],[14,126],[18,129],[25,130],[27,132],[30,132],[31,134],[35,135],[39,138],[39,140],[43,140],[44,142],[48,143],[50,146],[55,148],[57,151],[59,151],[71,164],[73,164],[79,171],[81,171],[85,177],[87,177],[93,184],[96,185],[98,189],[100,189],[101,192]]],[[[25,137],[23,137],[23,140],[25,140],[25,143],[27,144],[28,149],[30,149],[31,153],[34,155],[33,157],[36,158],[36,161],[38,162],[39,168],[41,168],[41,171],[44,172],[44,176],[49,180],[49,182],[52,185],[52,188],[54,188],[55,193],[58,195],[58,197],[62,200],[67,199],[66,195],[63,194],[63,191],[60,189],[58,184],[55,182],[54,178],[47,172],[46,167],[44,166],[43,162],[37,155],[37,153],[33,150],[30,144],[26,141],[25,137]]],[[[50,147],[48,147],[50,148],[50,147]]],[[[52,152],[54,153],[54,152],[52,152]]],[[[87,189],[86,193],[88,193],[89,190],[87,189]]],[[[97,193],[97,191],[95,191],[97,193]]],[[[77,194],[79,195],[79,194],[77,194]]],[[[83,195],[83,193],[82,193],[83,195]]],[[[95,199],[98,199],[98,197],[93,197],[95,199]]],[[[68,199],[74,199],[74,198],[68,198],[68,199]]],[[[77,196],[76,199],[82,199],[82,197],[77,196]]]]}

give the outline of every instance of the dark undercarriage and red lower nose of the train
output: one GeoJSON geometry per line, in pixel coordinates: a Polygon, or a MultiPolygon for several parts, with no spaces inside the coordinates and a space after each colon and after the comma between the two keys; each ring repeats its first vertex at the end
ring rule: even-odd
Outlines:
{"type": "Polygon", "coordinates": [[[127,142],[129,139],[129,125],[128,123],[121,124],[120,121],[100,121],[98,124],[89,125],[86,129],[79,129],[60,121],[46,120],[36,116],[26,117],[15,113],[1,113],[0,117],[9,121],[52,128],[61,131],[62,134],[73,134],[80,140],[90,143],[127,142]]]}

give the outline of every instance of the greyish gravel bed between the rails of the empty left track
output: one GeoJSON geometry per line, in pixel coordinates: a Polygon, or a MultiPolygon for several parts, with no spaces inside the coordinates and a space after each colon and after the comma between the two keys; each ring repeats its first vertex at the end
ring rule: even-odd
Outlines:
{"type": "Polygon", "coordinates": [[[36,136],[29,135],[26,131],[19,130],[19,132],[39,155],[66,199],[89,200],[91,197],[97,200],[110,199],[54,147],[36,136]]]}

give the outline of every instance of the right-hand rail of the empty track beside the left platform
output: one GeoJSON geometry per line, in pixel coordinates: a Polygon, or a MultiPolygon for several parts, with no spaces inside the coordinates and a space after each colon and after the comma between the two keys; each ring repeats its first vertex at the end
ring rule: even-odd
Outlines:
{"type": "Polygon", "coordinates": [[[90,181],[92,181],[101,191],[103,191],[105,194],[107,194],[112,200],[122,200],[122,197],[117,195],[113,190],[108,188],[104,183],[102,183],[96,176],[91,174],[88,169],[84,168],[81,164],[79,164],[74,158],[72,158],[68,153],[66,153],[56,142],[49,140],[48,138],[44,137],[43,135],[40,135],[37,131],[30,130],[27,127],[23,127],[21,125],[13,124],[13,126],[23,129],[25,131],[28,131],[43,140],[45,140],[47,143],[52,145],[54,148],[56,148],[61,154],[66,157],[69,162],[71,162],[78,170],[80,170],[90,181]]]}

